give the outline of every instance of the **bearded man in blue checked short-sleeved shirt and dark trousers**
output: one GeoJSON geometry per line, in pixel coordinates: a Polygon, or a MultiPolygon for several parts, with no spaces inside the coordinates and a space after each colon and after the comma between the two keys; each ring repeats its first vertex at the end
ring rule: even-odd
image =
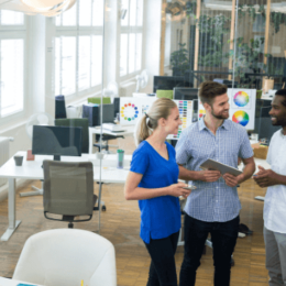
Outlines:
{"type": "Polygon", "coordinates": [[[240,222],[237,185],[252,176],[255,164],[246,130],[228,120],[230,105],[227,87],[213,81],[202,82],[199,99],[206,116],[186,129],[176,145],[179,177],[197,186],[188,196],[185,207],[185,255],[179,285],[195,285],[205,241],[210,233],[215,286],[227,286],[240,222]],[[200,169],[208,158],[238,167],[238,157],[243,160],[245,167],[237,177],[200,169]]]}

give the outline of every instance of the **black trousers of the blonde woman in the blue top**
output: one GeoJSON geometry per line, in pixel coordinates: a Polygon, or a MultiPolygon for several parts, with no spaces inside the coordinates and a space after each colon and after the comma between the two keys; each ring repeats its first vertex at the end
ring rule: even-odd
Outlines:
{"type": "Polygon", "coordinates": [[[179,232],[145,243],[151,256],[147,286],[177,286],[175,252],[179,232]]]}

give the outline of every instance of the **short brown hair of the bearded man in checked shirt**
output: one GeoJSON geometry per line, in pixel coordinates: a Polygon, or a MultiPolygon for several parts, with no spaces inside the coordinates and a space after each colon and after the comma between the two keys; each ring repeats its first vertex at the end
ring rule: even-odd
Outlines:
{"type": "Polygon", "coordinates": [[[228,87],[216,81],[204,81],[199,86],[199,99],[201,103],[212,106],[215,97],[227,94],[228,87]]]}

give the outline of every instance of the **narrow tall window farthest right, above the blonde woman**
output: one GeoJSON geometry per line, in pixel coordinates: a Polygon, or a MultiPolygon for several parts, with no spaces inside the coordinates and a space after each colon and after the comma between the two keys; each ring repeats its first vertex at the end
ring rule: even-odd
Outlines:
{"type": "Polygon", "coordinates": [[[122,0],[120,35],[120,76],[142,67],[143,0],[122,0]]]}

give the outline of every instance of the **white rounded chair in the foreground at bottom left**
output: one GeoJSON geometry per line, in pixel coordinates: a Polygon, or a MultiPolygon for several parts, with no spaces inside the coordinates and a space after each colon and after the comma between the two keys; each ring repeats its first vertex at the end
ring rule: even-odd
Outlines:
{"type": "Polygon", "coordinates": [[[117,286],[116,253],[107,239],[85,230],[56,229],[28,239],[13,279],[45,286],[117,286]]]}

